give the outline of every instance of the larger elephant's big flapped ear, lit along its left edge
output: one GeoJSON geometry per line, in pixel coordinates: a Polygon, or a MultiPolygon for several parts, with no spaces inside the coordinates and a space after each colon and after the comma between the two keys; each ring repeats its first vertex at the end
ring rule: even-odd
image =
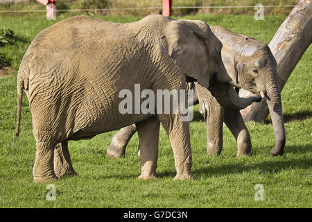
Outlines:
{"type": "Polygon", "coordinates": [[[205,37],[186,22],[171,21],[165,28],[168,54],[183,74],[209,87],[205,37]]]}

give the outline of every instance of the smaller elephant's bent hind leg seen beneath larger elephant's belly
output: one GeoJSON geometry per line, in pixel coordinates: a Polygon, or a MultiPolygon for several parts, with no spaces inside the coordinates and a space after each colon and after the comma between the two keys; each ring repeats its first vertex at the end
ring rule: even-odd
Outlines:
{"type": "Polygon", "coordinates": [[[121,128],[114,137],[112,137],[110,147],[106,151],[107,156],[112,159],[123,157],[125,155],[125,148],[127,148],[128,142],[135,132],[137,132],[135,124],[121,128]]]}

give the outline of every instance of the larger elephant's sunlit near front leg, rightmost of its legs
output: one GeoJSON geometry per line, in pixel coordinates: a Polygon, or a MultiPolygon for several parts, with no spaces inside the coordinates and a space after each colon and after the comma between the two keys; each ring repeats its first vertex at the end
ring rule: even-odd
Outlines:
{"type": "Polygon", "coordinates": [[[158,118],[166,130],[173,148],[175,169],[177,171],[177,175],[174,179],[194,179],[191,174],[192,155],[189,136],[189,121],[182,121],[180,114],[158,114],[158,118]]]}

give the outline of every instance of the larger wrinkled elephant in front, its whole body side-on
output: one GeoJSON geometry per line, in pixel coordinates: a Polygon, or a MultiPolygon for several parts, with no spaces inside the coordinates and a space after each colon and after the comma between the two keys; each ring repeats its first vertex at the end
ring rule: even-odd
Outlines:
{"type": "Polygon", "coordinates": [[[89,139],[132,123],[137,123],[141,144],[140,177],[154,177],[158,133],[153,130],[160,122],[173,148],[175,179],[193,178],[189,122],[181,121],[181,112],[155,115],[132,110],[122,114],[119,93],[122,89],[135,92],[135,85],[152,92],[178,91],[186,88],[187,79],[209,87],[213,79],[211,85],[216,85],[216,91],[224,90],[221,97],[234,107],[259,101],[257,96],[239,99],[234,95],[234,88],[227,84],[231,78],[220,56],[221,47],[205,22],[161,15],[129,24],[71,17],[39,33],[19,67],[15,134],[19,135],[25,89],[37,146],[34,181],[76,175],[69,140],[89,139]],[[233,103],[231,96],[236,98],[233,103]]]}

